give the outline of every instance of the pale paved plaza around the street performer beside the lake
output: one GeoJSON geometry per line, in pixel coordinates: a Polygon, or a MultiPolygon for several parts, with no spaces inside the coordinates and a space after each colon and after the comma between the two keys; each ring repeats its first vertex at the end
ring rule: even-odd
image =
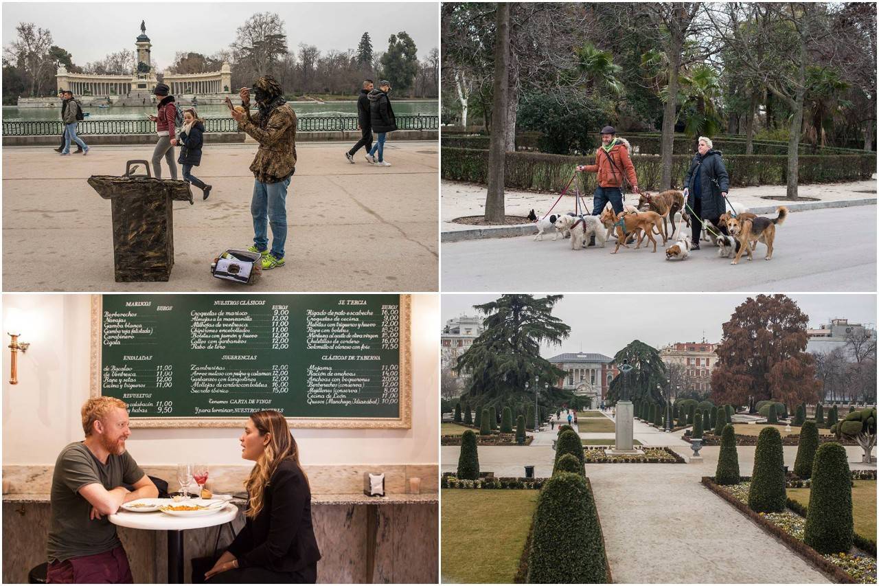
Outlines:
{"type": "MultiPolygon", "coordinates": [[[[207,143],[193,173],[214,186],[194,205],[174,203],[169,282],[113,280],[110,201],[86,183],[121,175],[153,147],[96,145],[60,157],[51,147],[3,150],[3,285],[6,291],[429,291],[438,288],[436,142],[390,140],[391,167],[351,165],[351,143],[299,143],[287,193],[287,264],[246,287],[214,279],[211,261],[252,244],[249,170],[256,143],[207,143]]],[[[176,156],[176,155],[175,155],[176,156]]],[[[179,165],[178,165],[179,169],[179,165]]],[[[169,174],[163,164],[163,176],[169,174]]],[[[180,177],[182,178],[182,172],[180,177]]],[[[270,232],[271,238],[271,232],[270,232]]]]}

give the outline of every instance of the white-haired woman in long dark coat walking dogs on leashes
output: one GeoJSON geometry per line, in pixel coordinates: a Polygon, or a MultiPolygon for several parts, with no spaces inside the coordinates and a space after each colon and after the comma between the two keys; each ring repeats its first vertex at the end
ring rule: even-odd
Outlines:
{"type": "MultiPolygon", "coordinates": [[[[715,226],[721,214],[726,211],[723,199],[730,193],[730,175],[723,165],[720,150],[714,150],[714,143],[707,136],[699,137],[699,146],[684,179],[684,197],[686,205],[699,218],[693,226],[693,246],[691,250],[699,250],[699,237],[702,222],[710,222],[715,226]]],[[[724,232],[725,233],[725,232],[724,232]]]]}

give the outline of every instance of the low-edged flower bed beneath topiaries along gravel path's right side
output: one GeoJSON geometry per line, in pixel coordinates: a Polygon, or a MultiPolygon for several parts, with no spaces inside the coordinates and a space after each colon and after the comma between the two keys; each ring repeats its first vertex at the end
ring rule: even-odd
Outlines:
{"type": "MultiPolygon", "coordinates": [[[[752,521],[764,530],[780,538],[788,547],[799,554],[804,560],[820,568],[832,576],[836,582],[850,584],[867,584],[876,582],[876,560],[860,553],[817,553],[803,542],[806,520],[791,510],[781,513],[755,513],[748,508],[748,490],[750,479],[743,477],[743,482],[722,487],[708,476],[702,477],[702,484],[708,487],[725,501],[749,516],[752,521]]],[[[789,503],[788,499],[788,503],[789,503]]]]}

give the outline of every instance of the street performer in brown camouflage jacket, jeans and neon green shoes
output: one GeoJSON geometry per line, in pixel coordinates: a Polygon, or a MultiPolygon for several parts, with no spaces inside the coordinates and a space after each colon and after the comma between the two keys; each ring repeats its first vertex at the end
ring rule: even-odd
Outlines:
{"type": "MultiPolygon", "coordinates": [[[[251,91],[239,92],[243,111],[232,109],[238,129],[259,143],[251,163],[253,172],[253,245],[248,248],[262,255],[265,270],[284,266],[287,242],[287,187],[296,172],[296,114],[287,105],[284,92],[272,76],[253,83],[258,112],[251,116],[251,91]],[[268,247],[268,225],[272,226],[272,248],[268,247]]],[[[227,102],[231,104],[231,102],[227,102]]]]}

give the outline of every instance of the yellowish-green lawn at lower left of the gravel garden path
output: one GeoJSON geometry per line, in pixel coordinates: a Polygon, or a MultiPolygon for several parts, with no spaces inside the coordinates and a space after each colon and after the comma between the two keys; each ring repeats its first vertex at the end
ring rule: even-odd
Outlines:
{"type": "Polygon", "coordinates": [[[443,489],[443,580],[512,582],[538,494],[538,490],[443,489]]]}

